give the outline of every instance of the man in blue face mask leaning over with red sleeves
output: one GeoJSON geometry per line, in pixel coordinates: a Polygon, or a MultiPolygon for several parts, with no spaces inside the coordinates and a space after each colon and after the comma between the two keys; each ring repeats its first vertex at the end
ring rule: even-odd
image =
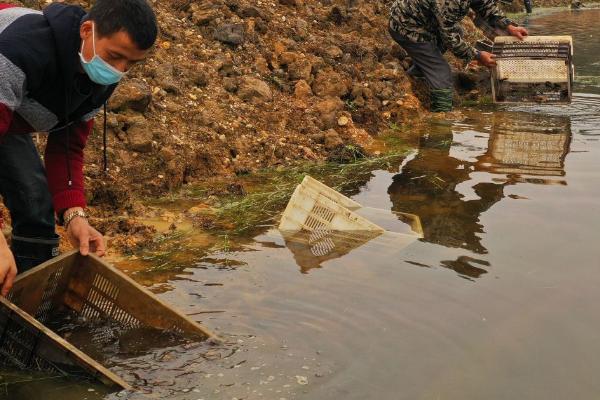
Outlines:
{"type": "Polygon", "coordinates": [[[0,3],[0,195],[12,219],[0,234],[0,293],[17,273],[58,253],[55,220],[81,254],[102,256],[88,224],[83,150],[93,117],[157,36],[146,0],[96,0],[90,12],[0,3]],[[31,138],[48,132],[44,164],[31,138]]]}

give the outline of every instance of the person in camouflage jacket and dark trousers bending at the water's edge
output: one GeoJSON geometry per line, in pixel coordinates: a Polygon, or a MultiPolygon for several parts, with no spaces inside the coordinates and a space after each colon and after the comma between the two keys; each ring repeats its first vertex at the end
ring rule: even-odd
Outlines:
{"type": "Polygon", "coordinates": [[[495,65],[494,55],[463,39],[461,20],[473,9],[490,26],[522,39],[527,30],[506,18],[495,0],[395,0],[389,31],[413,60],[409,74],[423,76],[431,90],[431,111],[452,110],[452,73],[443,54],[450,50],[466,63],[495,65]]]}

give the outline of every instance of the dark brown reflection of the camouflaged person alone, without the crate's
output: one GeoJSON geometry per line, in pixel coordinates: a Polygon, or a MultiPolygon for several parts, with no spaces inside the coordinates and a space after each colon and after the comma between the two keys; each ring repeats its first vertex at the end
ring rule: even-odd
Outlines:
{"type": "Polygon", "coordinates": [[[472,163],[451,157],[451,144],[449,128],[421,138],[419,153],[388,188],[392,209],[418,215],[425,241],[483,254],[479,217],[504,197],[504,184],[478,183],[479,199],[465,200],[456,188],[470,179],[472,163]]]}

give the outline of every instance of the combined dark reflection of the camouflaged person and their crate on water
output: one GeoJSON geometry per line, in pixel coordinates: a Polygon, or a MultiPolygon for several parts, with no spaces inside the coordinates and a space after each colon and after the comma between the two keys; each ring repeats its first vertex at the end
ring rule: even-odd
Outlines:
{"type": "MultiPolygon", "coordinates": [[[[433,125],[421,136],[418,153],[393,176],[388,188],[392,209],[417,214],[425,241],[486,254],[481,215],[505,197],[506,186],[566,185],[565,157],[571,143],[568,117],[496,113],[486,122],[491,125],[481,130],[489,133],[487,143],[481,134],[469,136],[468,129],[433,125]],[[481,173],[490,175],[474,179],[481,173]],[[472,195],[465,193],[465,186],[472,195]]],[[[474,261],[486,265],[460,257],[442,265],[477,278],[485,270],[473,266],[474,261]]]]}

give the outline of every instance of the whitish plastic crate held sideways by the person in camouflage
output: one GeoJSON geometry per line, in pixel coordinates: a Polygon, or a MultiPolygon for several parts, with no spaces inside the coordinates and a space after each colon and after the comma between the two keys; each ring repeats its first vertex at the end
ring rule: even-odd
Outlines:
{"type": "Polygon", "coordinates": [[[574,79],[570,36],[512,36],[494,39],[496,103],[568,103],[574,79]]]}

